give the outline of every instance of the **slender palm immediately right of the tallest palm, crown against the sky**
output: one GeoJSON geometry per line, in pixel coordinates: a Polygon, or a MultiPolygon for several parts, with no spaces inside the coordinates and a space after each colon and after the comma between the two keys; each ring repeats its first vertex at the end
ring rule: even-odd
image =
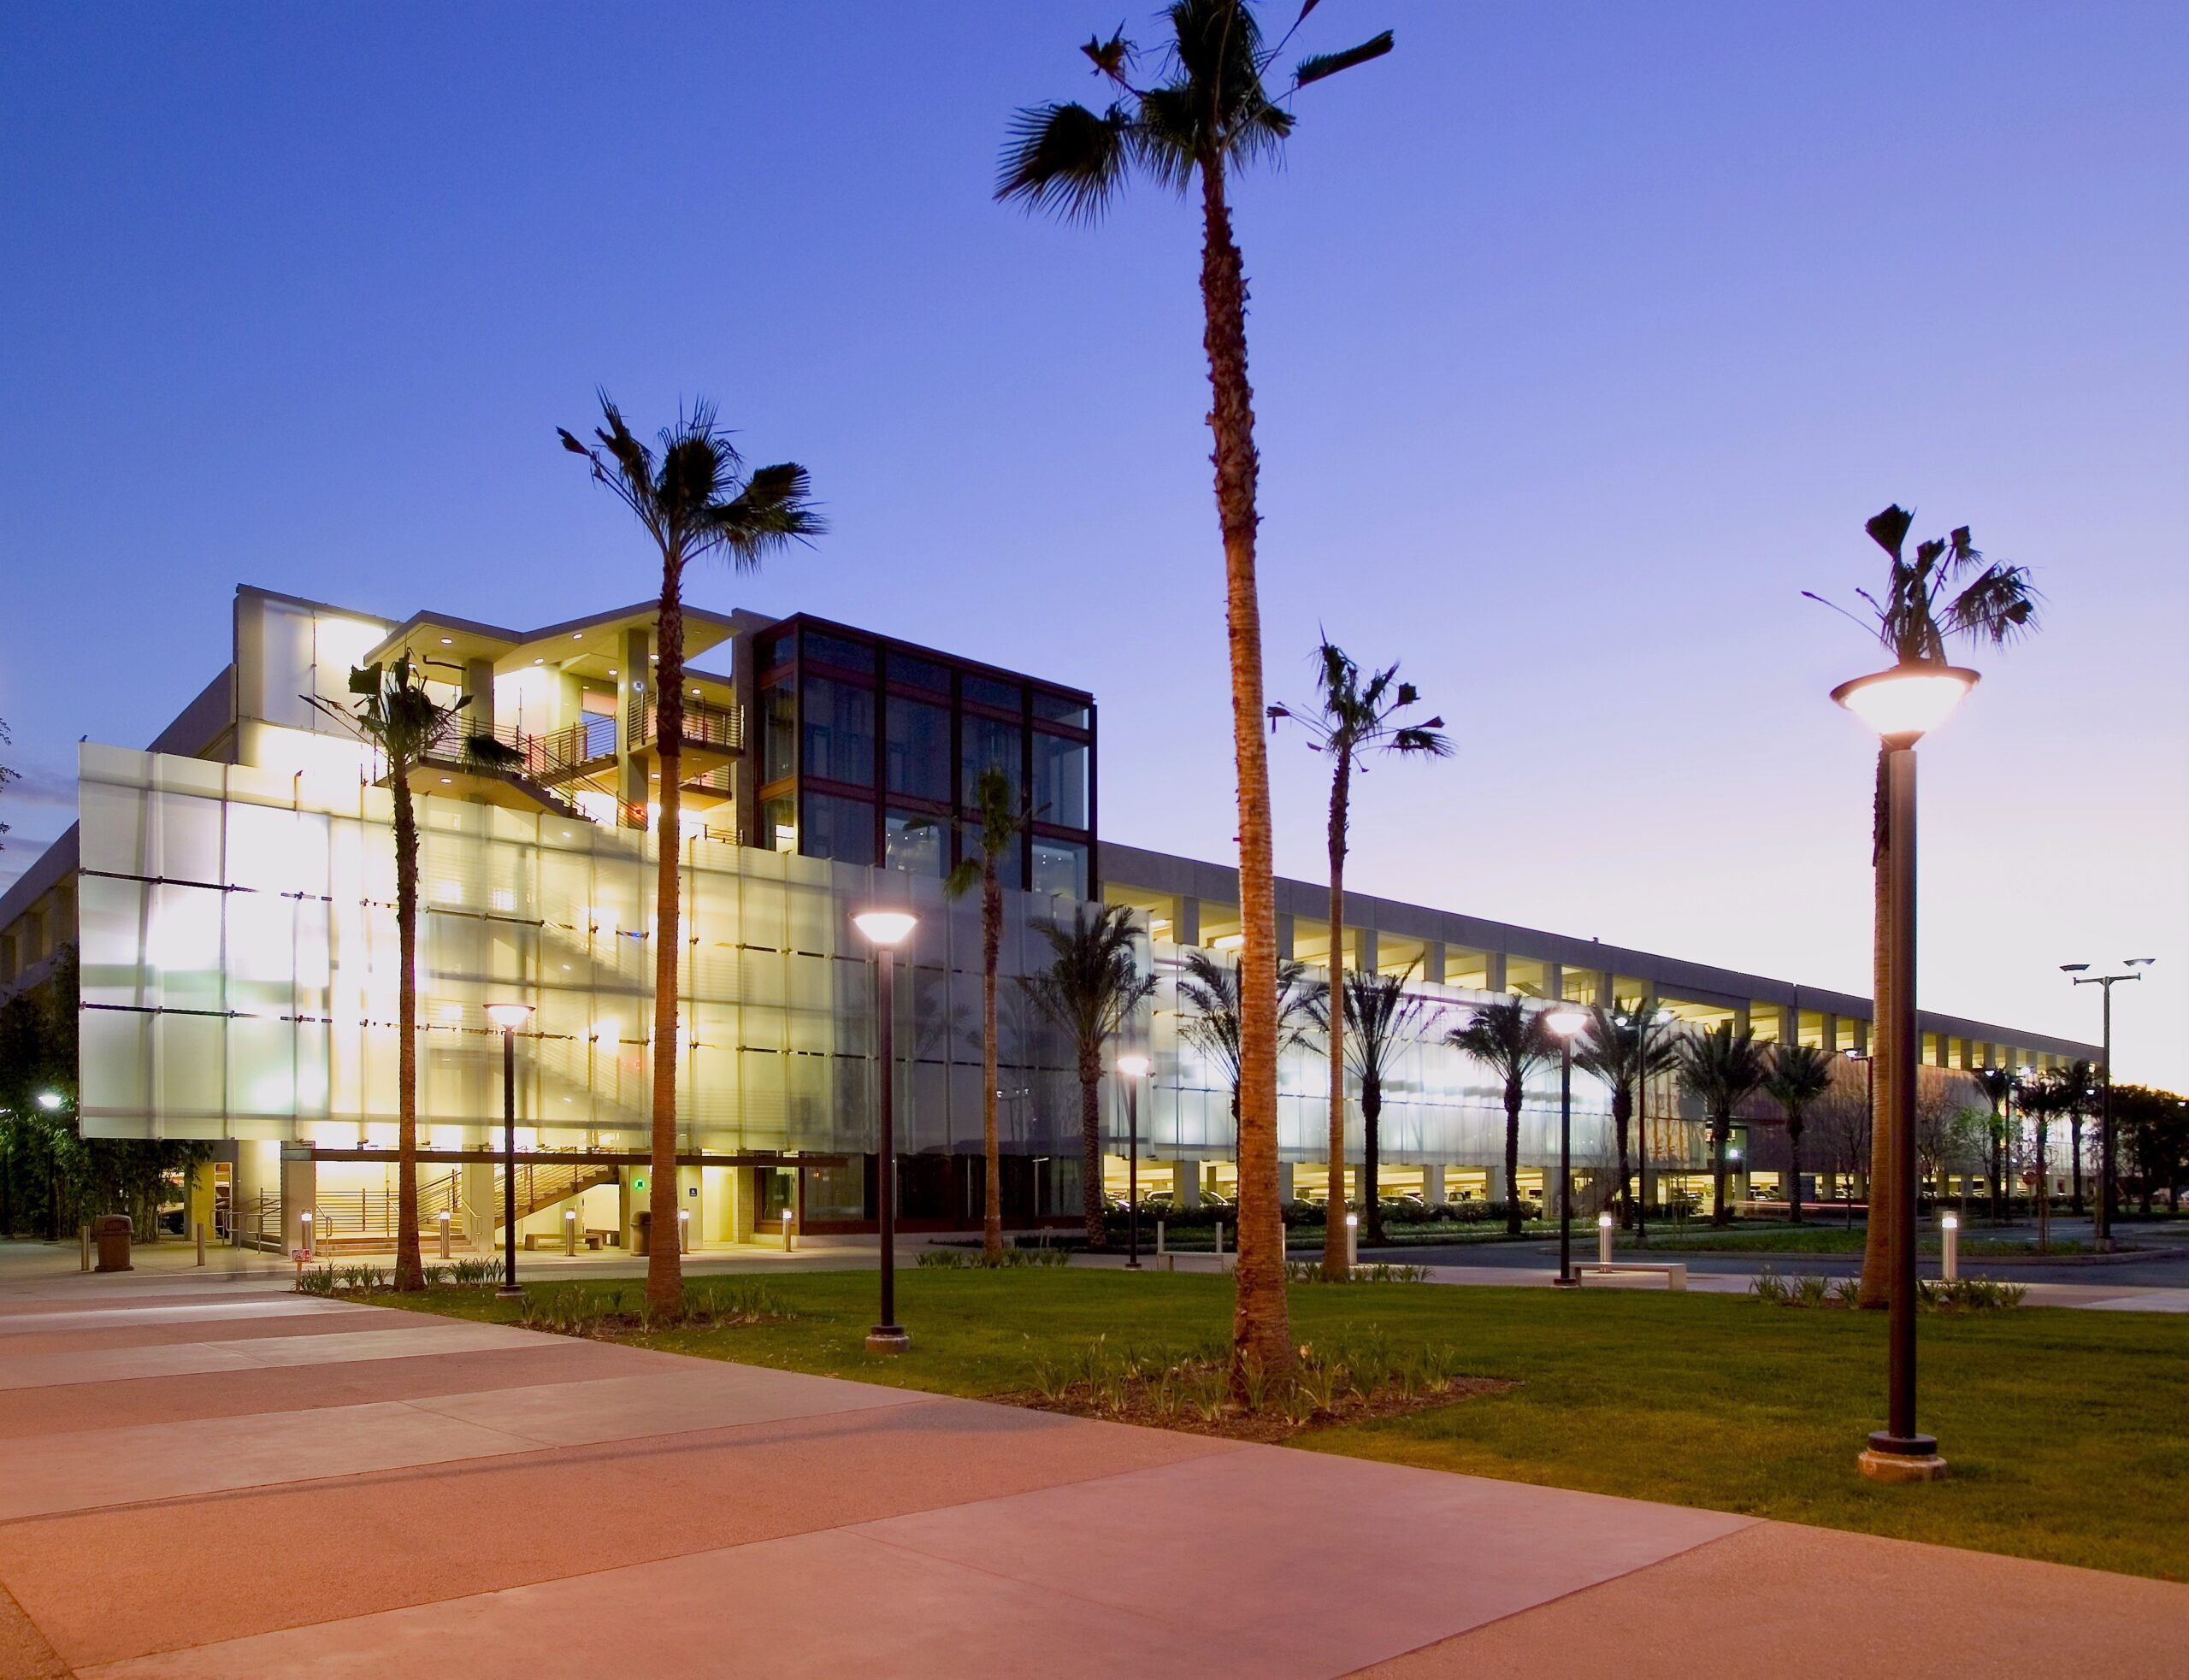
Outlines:
{"type": "MultiPolygon", "coordinates": [[[[1278,718],[1296,718],[1307,728],[1307,746],[1331,755],[1331,984],[1346,962],[1346,822],[1353,807],[1353,772],[1368,774],[1368,763],[1377,752],[1418,752],[1443,759],[1451,755],[1451,742],[1440,733],[1443,718],[1425,724],[1401,724],[1399,713],[1421,700],[1412,682],[1399,682],[1399,667],[1388,665],[1362,678],[1359,665],[1327,637],[1316,648],[1320,661],[1316,707],[1294,711],[1292,707],[1270,707],[1270,726],[1278,718]]],[[[1346,1017],[1340,1011],[1329,1022],[1331,1054],[1331,1175],[1344,1177],[1346,1166],[1346,1017]]],[[[1364,1190],[1366,1194],[1366,1190],[1364,1190]]],[[[1366,1194],[1370,1232],[1381,1240],[1381,1218],[1375,1197],[1366,1194]]],[[[1346,1232],[1333,1218],[1322,1232],[1322,1271],[1329,1278],[1346,1275],[1346,1232]]]]}

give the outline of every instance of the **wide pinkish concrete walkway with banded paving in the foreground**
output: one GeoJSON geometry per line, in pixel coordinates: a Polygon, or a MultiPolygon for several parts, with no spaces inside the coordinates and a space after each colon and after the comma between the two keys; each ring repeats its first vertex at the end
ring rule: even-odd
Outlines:
{"type": "Polygon", "coordinates": [[[0,1253],[0,1676],[1484,1676],[1556,1652],[1688,1680],[1705,1649],[1716,1676],[1999,1676],[2189,1641],[2189,1588],[2158,1582],[285,1288],[0,1253]],[[1957,1603],[2014,1603],[2012,1628],[1957,1603]]]}

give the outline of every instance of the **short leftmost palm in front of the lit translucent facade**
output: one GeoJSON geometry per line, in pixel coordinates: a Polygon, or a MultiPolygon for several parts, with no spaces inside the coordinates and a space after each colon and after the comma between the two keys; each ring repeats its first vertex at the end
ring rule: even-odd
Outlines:
{"type": "MultiPolygon", "coordinates": [[[[355,709],[304,696],[317,711],[348,728],[387,763],[387,792],[396,803],[396,1288],[425,1288],[418,1258],[418,814],[412,772],[444,748],[471,696],[442,704],[425,685],[425,669],[409,650],[394,663],[350,672],[355,709]]],[[[490,735],[464,742],[464,759],[499,768],[514,757],[490,735]]]]}

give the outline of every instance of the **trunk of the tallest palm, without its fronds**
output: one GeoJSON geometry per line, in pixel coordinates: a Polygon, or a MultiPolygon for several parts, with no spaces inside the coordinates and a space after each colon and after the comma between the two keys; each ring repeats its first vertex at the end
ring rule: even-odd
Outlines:
{"type": "Polygon", "coordinates": [[[1208,429],[1215,433],[1217,521],[1230,634],[1232,748],[1239,757],[1239,1260],[1232,1389],[1248,1365],[1292,1369],[1285,1306],[1285,1218],[1276,1205],[1276,884],[1270,844],[1270,750],[1263,742],[1261,602],[1254,586],[1254,392],[1246,378],[1246,265],[1224,201],[1224,160],[1202,168],[1202,306],[1208,429]]]}

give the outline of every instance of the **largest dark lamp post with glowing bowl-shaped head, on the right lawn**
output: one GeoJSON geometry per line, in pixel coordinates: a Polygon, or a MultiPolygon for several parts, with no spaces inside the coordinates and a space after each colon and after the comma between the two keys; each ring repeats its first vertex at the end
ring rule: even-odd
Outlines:
{"type": "MultiPolygon", "coordinates": [[[[1885,744],[1885,851],[1889,938],[1885,973],[1891,1006],[1878,1011],[1876,1050],[1885,1054],[1883,1102],[1872,1124],[1885,1124],[1891,1148],[1891,1323],[1887,1326],[1887,1422],[1869,1433],[1861,1457],[1874,1481],[1935,1481],[1946,1474],[1937,1437],[1915,1428],[1915,742],[1937,728],[1972,687],[1964,665],[1902,661],[1858,676],[1832,698],[1869,724],[1885,744]]],[[[1878,1197],[1869,1197],[1872,1214],[1878,1197]]]]}

